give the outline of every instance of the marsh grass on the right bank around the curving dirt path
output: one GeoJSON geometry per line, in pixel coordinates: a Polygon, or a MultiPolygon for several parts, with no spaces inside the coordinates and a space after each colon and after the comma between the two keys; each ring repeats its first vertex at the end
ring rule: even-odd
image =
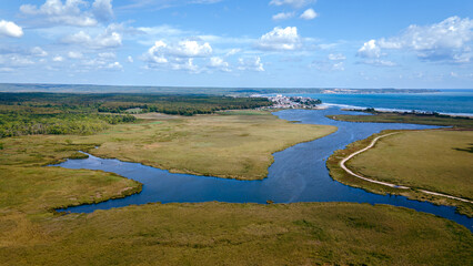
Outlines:
{"type": "Polygon", "coordinates": [[[344,150],[336,151],[326,162],[331,176],[344,184],[361,187],[380,194],[401,194],[413,200],[430,201],[435,204],[457,206],[457,211],[470,217],[473,206],[455,200],[427,195],[419,190],[427,190],[473,198],[471,187],[472,154],[469,147],[473,131],[405,131],[381,139],[376,145],[346,163],[355,173],[372,180],[405,185],[412,190],[400,190],[373,184],[351,176],[340,167],[340,161],[364,149],[384,131],[369,139],[354,142],[344,150]]]}

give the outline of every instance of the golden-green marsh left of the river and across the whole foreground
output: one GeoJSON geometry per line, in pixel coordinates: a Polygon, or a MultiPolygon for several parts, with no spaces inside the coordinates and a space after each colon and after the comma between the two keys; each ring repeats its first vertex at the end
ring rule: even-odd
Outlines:
{"type": "MultiPolygon", "coordinates": [[[[2,108],[11,112],[11,106],[2,108]]],[[[27,110],[63,112],[54,105],[27,110]]],[[[141,191],[141,184],[111,173],[44,167],[84,156],[77,151],[254,180],[265,176],[271,153],[335,130],[262,111],[137,117],[93,133],[0,139],[0,265],[467,265],[473,259],[473,236],[464,226],[386,205],[153,203],[91,214],[53,212],[141,191]]]]}

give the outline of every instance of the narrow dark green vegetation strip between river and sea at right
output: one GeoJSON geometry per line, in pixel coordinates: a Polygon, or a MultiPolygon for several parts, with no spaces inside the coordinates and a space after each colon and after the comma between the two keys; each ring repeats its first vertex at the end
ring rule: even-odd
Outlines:
{"type": "Polygon", "coordinates": [[[409,123],[409,124],[429,124],[444,125],[461,129],[473,129],[473,119],[463,116],[441,115],[437,113],[415,113],[415,112],[376,112],[368,110],[373,115],[329,115],[329,119],[349,121],[349,122],[373,122],[373,123],[409,123]]]}

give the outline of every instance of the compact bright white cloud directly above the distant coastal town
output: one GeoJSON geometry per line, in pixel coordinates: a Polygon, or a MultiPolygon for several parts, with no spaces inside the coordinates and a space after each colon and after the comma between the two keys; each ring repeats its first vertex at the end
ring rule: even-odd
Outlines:
{"type": "Polygon", "coordinates": [[[285,29],[276,27],[260,38],[258,47],[262,50],[274,51],[295,50],[301,47],[301,38],[295,27],[285,29]]]}

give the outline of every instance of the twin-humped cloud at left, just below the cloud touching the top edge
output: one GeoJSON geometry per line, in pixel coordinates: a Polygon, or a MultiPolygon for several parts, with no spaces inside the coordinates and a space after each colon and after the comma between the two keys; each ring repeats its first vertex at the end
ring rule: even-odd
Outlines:
{"type": "Polygon", "coordinates": [[[63,38],[62,42],[68,44],[79,44],[90,49],[108,49],[120,47],[121,40],[122,37],[120,33],[108,28],[104,32],[94,38],[90,37],[84,31],[79,31],[76,34],[63,38]]]}

